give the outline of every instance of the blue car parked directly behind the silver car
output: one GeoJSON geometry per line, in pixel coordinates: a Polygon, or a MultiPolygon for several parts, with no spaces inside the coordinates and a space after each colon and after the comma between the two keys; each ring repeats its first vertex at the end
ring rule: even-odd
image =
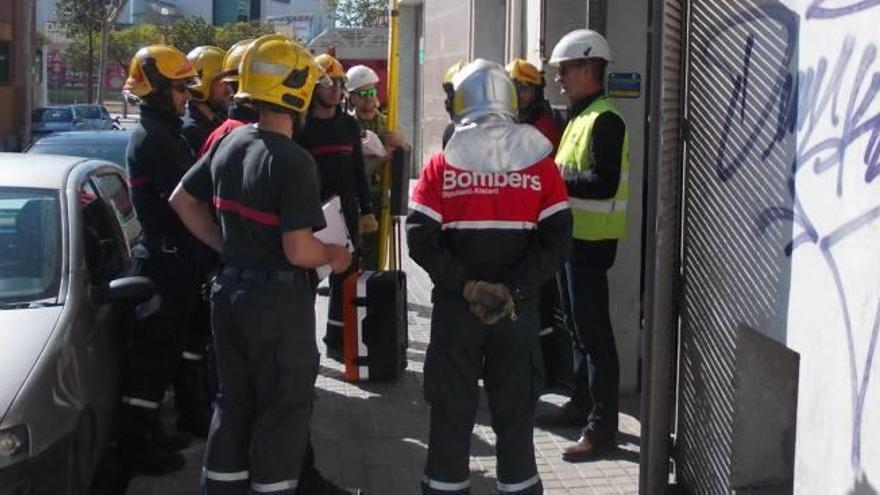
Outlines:
{"type": "Polygon", "coordinates": [[[27,153],[82,156],[109,160],[125,167],[125,150],[129,130],[118,131],[68,131],[44,136],[25,150],[27,153]]]}

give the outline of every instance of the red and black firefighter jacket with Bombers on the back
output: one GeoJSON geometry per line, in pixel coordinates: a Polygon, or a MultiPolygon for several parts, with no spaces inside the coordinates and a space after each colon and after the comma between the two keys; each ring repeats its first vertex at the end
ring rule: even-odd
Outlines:
{"type": "Polygon", "coordinates": [[[571,252],[565,183],[549,156],[516,171],[474,172],[437,153],[413,191],[407,240],[435,301],[460,298],[468,280],[503,282],[518,299],[536,300],[571,252]]]}

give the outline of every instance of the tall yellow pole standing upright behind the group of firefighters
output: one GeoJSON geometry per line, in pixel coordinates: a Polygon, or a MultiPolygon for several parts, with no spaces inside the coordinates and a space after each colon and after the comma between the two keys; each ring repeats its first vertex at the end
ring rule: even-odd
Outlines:
{"type": "MultiPolygon", "coordinates": [[[[398,127],[398,74],[400,73],[400,51],[398,49],[399,0],[391,1],[388,36],[388,132],[397,132],[398,127]]],[[[391,217],[391,155],[382,165],[381,210],[379,212],[379,269],[396,270],[397,239],[394,219],[391,217]]]]}

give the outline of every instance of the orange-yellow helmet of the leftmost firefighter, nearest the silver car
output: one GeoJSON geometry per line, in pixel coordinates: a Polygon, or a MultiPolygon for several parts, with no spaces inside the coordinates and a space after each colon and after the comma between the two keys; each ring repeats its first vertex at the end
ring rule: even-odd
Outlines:
{"type": "Polygon", "coordinates": [[[131,58],[128,79],[122,92],[143,98],[167,81],[193,79],[198,75],[186,55],[167,45],[151,45],[138,50],[131,58]]]}

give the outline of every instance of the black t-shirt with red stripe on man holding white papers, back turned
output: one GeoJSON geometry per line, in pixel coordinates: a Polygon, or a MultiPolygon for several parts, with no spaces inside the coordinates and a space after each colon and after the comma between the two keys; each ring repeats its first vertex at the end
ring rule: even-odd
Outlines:
{"type": "Polygon", "coordinates": [[[287,136],[244,125],[202,156],[183,187],[213,203],[223,234],[223,261],[243,268],[293,270],[281,235],[324,227],[318,171],[287,136]]]}

